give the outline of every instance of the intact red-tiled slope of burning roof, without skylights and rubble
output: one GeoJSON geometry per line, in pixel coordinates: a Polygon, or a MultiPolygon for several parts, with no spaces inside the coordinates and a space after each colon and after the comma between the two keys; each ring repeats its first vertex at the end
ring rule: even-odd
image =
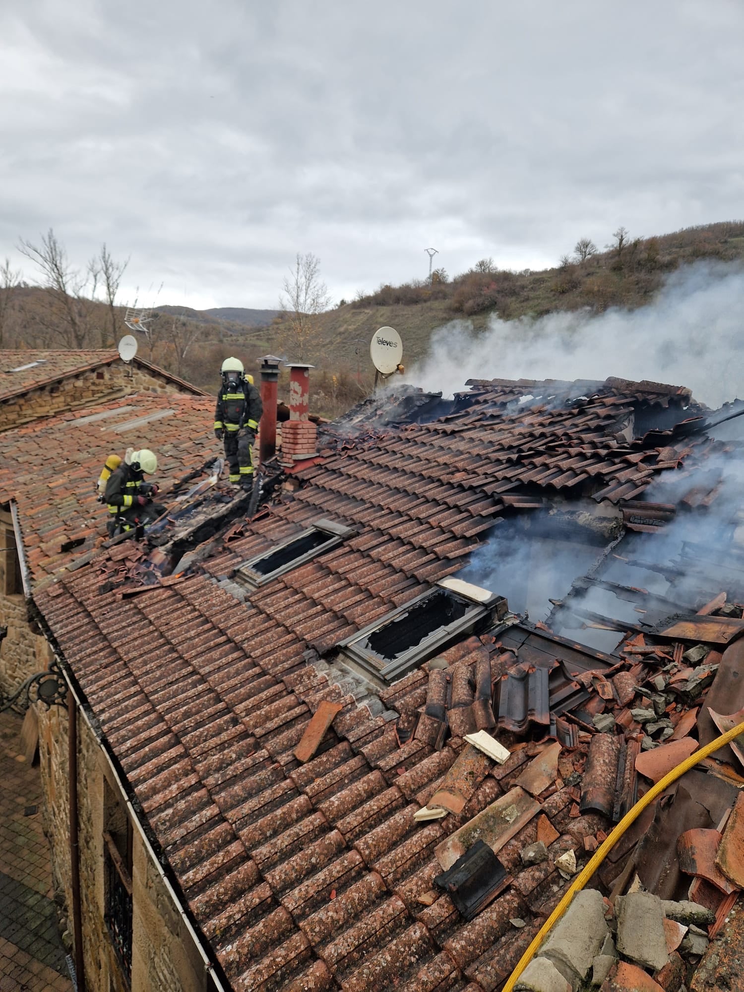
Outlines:
{"type": "MultiPolygon", "coordinates": [[[[398,713],[425,703],[427,673],[378,698],[332,654],[458,570],[500,515],[557,494],[637,499],[694,448],[686,391],[529,385],[523,400],[524,384],[478,384],[431,423],[365,435],[357,422],[356,440],[331,427],[297,491],[236,521],[194,574],[143,584],[143,549],[125,543],[37,597],[235,989],[497,989],[567,886],[553,862],[521,870],[532,819],[499,854],[514,885],[471,923],[447,896],[422,899],[440,871],[435,845],[506,793],[528,755],[487,775],[457,816],[416,823],[462,741],[399,746],[398,713]],[[652,408],[658,426],[634,438],[631,421],[652,408]],[[318,517],[356,534],[257,590],[233,581],[318,517]],[[293,751],[322,700],[342,708],[301,765],[293,751]]],[[[150,581],[164,558],[151,556],[150,581]]],[[[500,651],[485,638],[445,657],[471,665],[500,651]]],[[[573,813],[575,792],[542,804],[558,851],[604,822],[573,813]]]]}

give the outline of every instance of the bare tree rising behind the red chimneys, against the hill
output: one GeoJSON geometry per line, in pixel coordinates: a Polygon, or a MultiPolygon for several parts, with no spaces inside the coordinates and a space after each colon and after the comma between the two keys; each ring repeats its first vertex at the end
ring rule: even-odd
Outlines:
{"type": "Polygon", "coordinates": [[[291,358],[305,361],[317,336],[317,317],[330,306],[328,290],[320,279],[320,260],[312,252],[297,253],[290,275],[285,276],[279,306],[285,319],[280,342],[291,358]]]}

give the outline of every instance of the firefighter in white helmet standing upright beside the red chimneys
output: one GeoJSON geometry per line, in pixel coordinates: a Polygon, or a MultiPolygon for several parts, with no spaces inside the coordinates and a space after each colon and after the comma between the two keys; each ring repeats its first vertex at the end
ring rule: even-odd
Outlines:
{"type": "Polygon", "coordinates": [[[221,371],[214,436],[217,440],[224,439],[230,482],[250,489],[253,485],[251,445],[264,409],[261,395],[251,376],[244,376],[243,363],[238,358],[225,358],[221,371]]]}

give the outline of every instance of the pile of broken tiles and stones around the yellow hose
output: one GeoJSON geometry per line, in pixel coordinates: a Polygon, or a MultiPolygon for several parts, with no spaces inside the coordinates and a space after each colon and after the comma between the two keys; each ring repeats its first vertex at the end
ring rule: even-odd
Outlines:
{"type": "MultiPolygon", "coordinates": [[[[531,872],[558,877],[553,897],[534,906],[537,921],[510,920],[515,930],[528,926],[534,933],[613,825],[652,784],[741,722],[742,610],[725,604],[725,597],[706,609],[699,621],[673,625],[658,637],[630,636],[615,659],[596,671],[573,673],[567,689],[575,688],[581,701],[559,710],[558,733],[553,710],[550,726],[545,715],[540,722],[537,710],[519,733],[513,720],[510,726],[509,712],[501,718],[499,682],[515,672],[522,678],[530,668],[514,652],[509,657],[512,649],[497,640],[481,639],[476,646],[471,638],[471,654],[464,658],[464,646],[452,652],[446,682],[454,691],[447,693],[444,673],[430,668],[428,704],[416,714],[401,707],[399,728],[407,740],[421,739],[423,732],[436,749],[446,742],[457,752],[445,774],[419,794],[422,807],[415,818],[441,823],[446,836],[434,851],[441,867],[434,886],[466,920],[510,885],[525,892],[531,872]],[[707,643],[704,636],[710,637],[707,643]],[[492,662],[488,702],[483,647],[492,662]],[[463,821],[462,811],[487,777],[497,780],[502,795],[463,821]],[[558,808],[560,832],[552,822],[558,808]],[[456,827],[447,827],[448,818],[456,827]]],[[[565,691],[564,680],[561,686],[565,691]]],[[[710,955],[725,942],[744,888],[742,765],[744,748],[734,744],[685,773],[649,806],[574,899],[518,987],[718,988],[700,984],[696,975],[709,974],[710,955]]],[[[420,901],[427,905],[435,898],[424,893],[420,901]]]]}

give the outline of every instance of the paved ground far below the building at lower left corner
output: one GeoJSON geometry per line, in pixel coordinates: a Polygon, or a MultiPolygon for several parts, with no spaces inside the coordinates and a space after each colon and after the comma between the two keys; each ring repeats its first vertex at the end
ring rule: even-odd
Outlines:
{"type": "Polygon", "coordinates": [[[16,713],[0,713],[0,992],[71,990],[52,901],[41,782],[21,754],[16,713]]]}

